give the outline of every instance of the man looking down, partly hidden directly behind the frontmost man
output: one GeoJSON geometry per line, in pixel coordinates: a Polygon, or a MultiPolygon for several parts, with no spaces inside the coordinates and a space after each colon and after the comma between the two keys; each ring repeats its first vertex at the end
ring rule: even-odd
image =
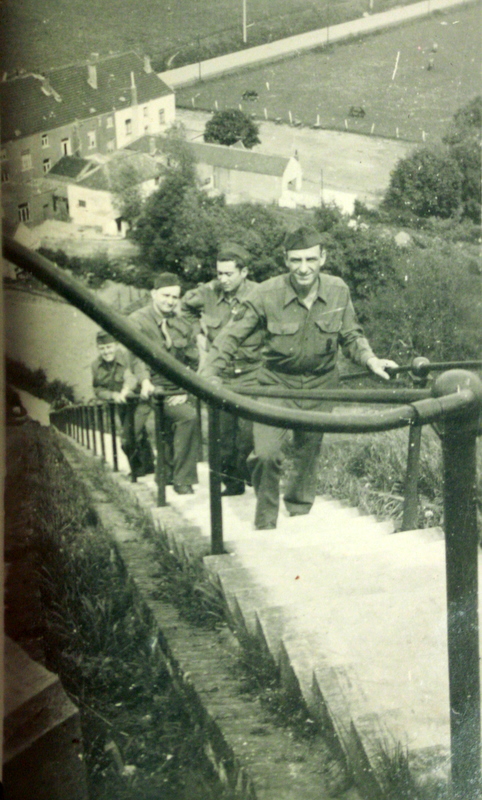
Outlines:
{"type": "MultiPolygon", "coordinates": [[[[257,284],[248,278],[249,253],[234,242],[219,248],[216,259],[216,278],[186,292],[181,308],[184,313],[200,315],[201,363],[212,342],[232,319],[239,304],[257,284]]],[[[234,358],[223,369],[221,379],[234,392],[240,386],[253,385],[260,363],[261,331],[246,339],[234,358]]],[[[249,480],[246,460],[253,449],[253,425],[242,417],[228,412],[220,415],[220,450],[223,495],[238,495],[245,491],[249,480]]]]}

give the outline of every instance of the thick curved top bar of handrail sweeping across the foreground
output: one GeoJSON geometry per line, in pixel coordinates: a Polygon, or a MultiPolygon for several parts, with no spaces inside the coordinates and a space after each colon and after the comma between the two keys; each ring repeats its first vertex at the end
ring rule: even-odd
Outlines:
{"type": "MultiPolygon", "coordinates": [[[[122,314],[99,300],[93,292],[80,285],[78,281],[48,259],[38,253],[32,253],[27,247],[9,237],[3,239],[3,251],[5,258],[31,272],[36,278],[54,289],[55,292],[111,333],[150,367],[162,372],[183,389],[216,408],[234,411],[246,419],[263,422],[267,425],[285,426],[288,424],[293,429],[310,429],[329,433],[369,433],[390,430],[404,427],[417,419],[418,402],[381,412],[332,414],[322,411],[278,408],[255,400],[244,399],[224,387],[213,386],[210,381],[201,378],[180,364],[173,356],[157,347],[136,330],[122,314]]],[[[395,393],[394,402],[396,402],[395,393]]],[[[419,402],[430,404],[431,401],[419,402]]],[[[432,406],[424,406],[427,409],[425,414],[429,414],[430,420],[433,420],[437,418],[437,415],[447,413],[446,407],[447,409],[449,407],[450,409],[459,408],[470,402],[471,397],[468,395],[457,394],[452,401],[443,398],[432,406]],[[429,412],[429,409],[432,410],[429,412]]],[[[426,421],[429,421],[428,418],[426,421]]]]}

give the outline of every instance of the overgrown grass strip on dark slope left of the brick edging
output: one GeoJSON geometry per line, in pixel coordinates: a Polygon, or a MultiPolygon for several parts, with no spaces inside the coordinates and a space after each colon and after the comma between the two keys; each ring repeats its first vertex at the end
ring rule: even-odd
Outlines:
{"type": "Polygon", "coordinates": [[[82,718],[92,800],[221,800],[146,606],[54,437],[36,429],[6,492],[6,524],[41,564],[47,666],[82,718]]]}

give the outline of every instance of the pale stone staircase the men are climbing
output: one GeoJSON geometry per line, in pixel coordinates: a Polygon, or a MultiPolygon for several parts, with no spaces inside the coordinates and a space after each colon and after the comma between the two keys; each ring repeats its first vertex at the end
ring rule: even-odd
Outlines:
{"type": "MultiPolygon", "coordinates": [[[[207,466],[167,501],[209,541],[207,466]]],[[[226,555],[207,556],[239,637],[257,641],[333,734],[362,794],[383,798],[387,760],[443,786],[449,771],[445,548],[438,528],[387,522],[317,498],[255,531],[254,493],[223,498],[226,555]]],[[[179,542],[177,543],[180,544],[179,542]]],[[[182,544],[181,544],[182,546],[182,544]]]]}

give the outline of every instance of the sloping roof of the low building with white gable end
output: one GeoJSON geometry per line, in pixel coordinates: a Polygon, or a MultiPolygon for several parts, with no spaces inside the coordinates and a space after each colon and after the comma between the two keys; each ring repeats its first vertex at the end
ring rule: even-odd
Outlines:
{"type": "Polygon", "coordinates": [[[251,150],[239,150],[222,144],[189,142],[189,147],[198,162],[211,164],[214,167],[236,169],[240,172],[257,172],[281,177],[289,162],[289,158],[282,156],[253,153],[251,150]]]}

